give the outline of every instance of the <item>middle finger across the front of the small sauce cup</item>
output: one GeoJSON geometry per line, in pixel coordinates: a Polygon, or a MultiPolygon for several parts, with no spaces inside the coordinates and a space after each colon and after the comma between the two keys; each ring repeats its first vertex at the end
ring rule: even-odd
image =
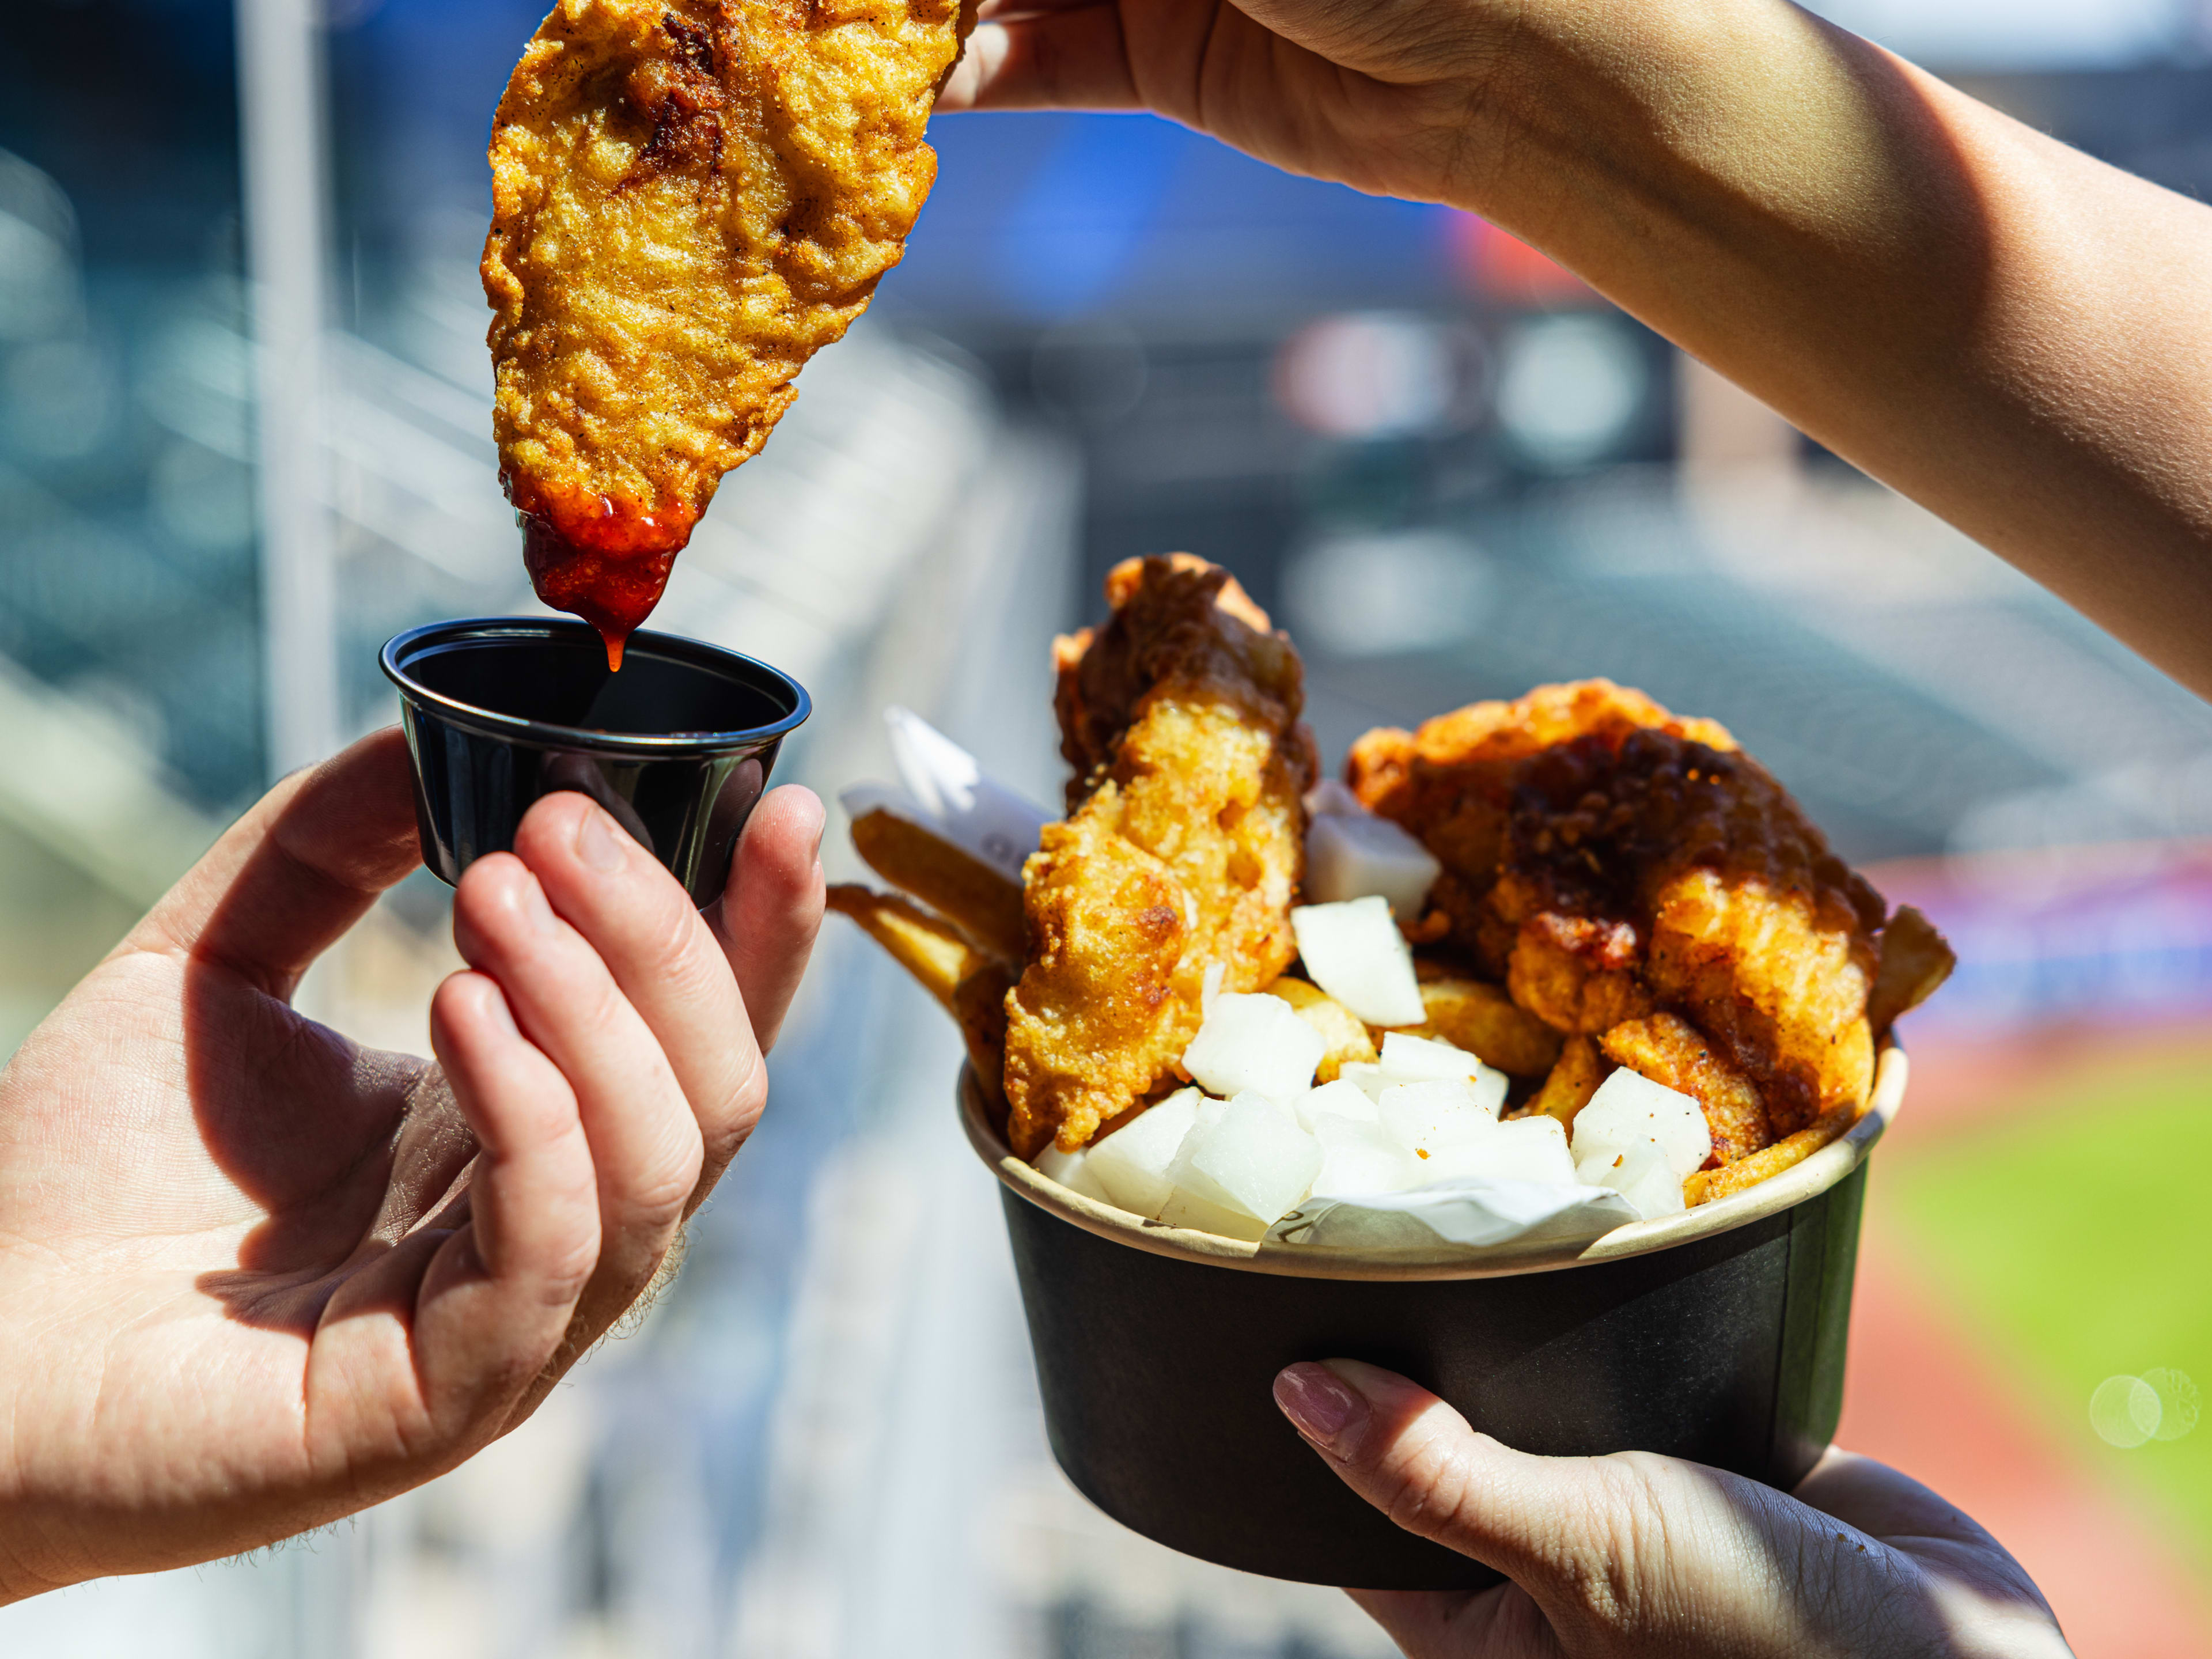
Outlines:
{"type": "Polygon", "coordinates": [[[538,801],[515,830],[515,856],[668,1057],[703,1148],[695,1206],[768,1097],[761,1051],[721,945],[677,878],[582,794],[538,801]]]}

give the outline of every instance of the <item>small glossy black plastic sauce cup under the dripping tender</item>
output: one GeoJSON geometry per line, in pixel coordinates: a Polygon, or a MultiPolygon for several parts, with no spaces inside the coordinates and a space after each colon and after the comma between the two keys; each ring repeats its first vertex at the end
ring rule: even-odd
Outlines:
{"type": "Polygon", "coordinates": [[[582,622],[476,617],[385,641],[414,757],[422,863],[458,883],[515,845],[542,794],[593,796],[695,905],[721,896],[805,688],[781,668],[666,633],[633,633],[622,672],[582,622]]]}

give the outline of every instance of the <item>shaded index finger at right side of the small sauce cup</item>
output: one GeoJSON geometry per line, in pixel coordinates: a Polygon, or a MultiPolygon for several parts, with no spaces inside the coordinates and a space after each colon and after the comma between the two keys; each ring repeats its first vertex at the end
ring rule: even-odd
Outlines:
{"type": "Polygon", "coordinates": [[[761,1053],[776,1046],[823,925],[821,849],[823,803],[814,792],[770,790],[745,823],[730,885],[714,907],[714,936],[737,973],[761,1053]]]}

